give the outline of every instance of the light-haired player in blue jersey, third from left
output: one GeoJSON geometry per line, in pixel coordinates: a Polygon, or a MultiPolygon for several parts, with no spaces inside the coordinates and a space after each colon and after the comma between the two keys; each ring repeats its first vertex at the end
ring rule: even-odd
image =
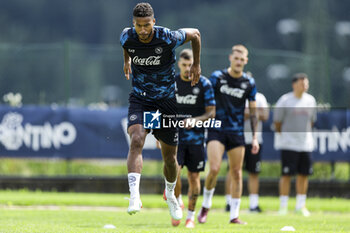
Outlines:
{"type": "Polygon", "coordinates": [[[259,151],[256,135],[256,86],[252,77],[243,72],[248,63],[248,50],[243,45],[232,47],[230,67],[215,71],[210,81],[213,85],[216,101],[216,119],[221,120],[222,127],[208,130],[207,152],[209,173],[205,180],[202,208],[198,222],[205,223],[212,205],[217,175],[222,156],[226,150],[229,160],[229,173],[232,178],[230,223],[246,224],[238,218],[242,195],[242,164],[244,158],[244,109],[246,99],[249,101],[250,121],[253,133],[252,154],[259,151]]]}

